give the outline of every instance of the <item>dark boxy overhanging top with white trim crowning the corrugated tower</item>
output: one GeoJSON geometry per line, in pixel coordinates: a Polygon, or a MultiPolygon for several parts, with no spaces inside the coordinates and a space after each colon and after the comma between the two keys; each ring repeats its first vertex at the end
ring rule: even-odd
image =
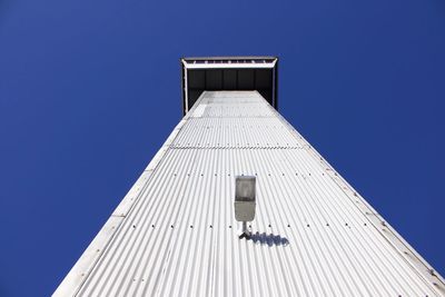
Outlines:
{"type": "Polygon", "coordinates": [[[182,58],[181,67],[184,115],[205,90],[257,90],[278,108],[277,57],[182,58]]]}

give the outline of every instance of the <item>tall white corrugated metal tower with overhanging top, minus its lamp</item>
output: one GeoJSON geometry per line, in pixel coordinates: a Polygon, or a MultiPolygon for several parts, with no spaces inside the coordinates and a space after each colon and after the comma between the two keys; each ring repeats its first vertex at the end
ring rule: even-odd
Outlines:
{"type": "Polygon", "coordinates": [[[278,113],[277,62],[181,59],[182,120],[55,296],[445,296],[278,113]],[[255,180],[247,237],[237,177],[255,180]]]}

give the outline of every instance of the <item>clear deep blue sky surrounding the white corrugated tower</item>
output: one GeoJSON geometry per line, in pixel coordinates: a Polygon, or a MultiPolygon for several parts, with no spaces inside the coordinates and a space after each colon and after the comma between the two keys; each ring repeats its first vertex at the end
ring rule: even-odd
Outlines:
{"type": "Polygon", "coordinates": [[[181,117],[179,57],[280,112],[445,275],[445,2],[0,1],[0,296],[51,294],[181,117]]]}

